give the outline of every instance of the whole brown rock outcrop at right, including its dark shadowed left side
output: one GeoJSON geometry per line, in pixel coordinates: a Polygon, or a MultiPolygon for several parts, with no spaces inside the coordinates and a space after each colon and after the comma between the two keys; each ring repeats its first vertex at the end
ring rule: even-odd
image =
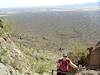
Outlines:
{"type": "Polygon", "coordinates": [[[100,42],[96,46],[87,48],[89,54],[82,57],[78,64],[85,66],[87,69],[100,70],[100,42]]]}

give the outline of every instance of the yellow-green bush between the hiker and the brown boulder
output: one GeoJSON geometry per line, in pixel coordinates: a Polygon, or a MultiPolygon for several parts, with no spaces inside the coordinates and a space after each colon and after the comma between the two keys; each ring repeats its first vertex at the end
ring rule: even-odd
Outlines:
{"type": "Polygon", "coordinates": [[[68,44],[68,49],[68,55],[75,63],[77,63],[78,60],[81,59],[81,57],[86,57],[87,55],[86,46],[83,46],[77,42],[73,44],[68,44]]]}

